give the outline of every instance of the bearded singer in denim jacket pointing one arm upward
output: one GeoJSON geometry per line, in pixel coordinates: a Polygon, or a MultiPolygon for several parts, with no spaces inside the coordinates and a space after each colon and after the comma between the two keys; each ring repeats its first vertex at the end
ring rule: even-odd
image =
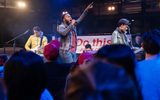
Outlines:
{"type": "Polygon", "coordinates": [[[64,63],[76,62],[77,49],[77,30],[76,25],[79,24],[87,15],[88,11],[93,8],[93,3],[89,4],[82,15],[77,19],[72,19],[68,12],[62,12],[62,23],[58,25],[57,31],[61,36],[59,54],[64,63]]]}

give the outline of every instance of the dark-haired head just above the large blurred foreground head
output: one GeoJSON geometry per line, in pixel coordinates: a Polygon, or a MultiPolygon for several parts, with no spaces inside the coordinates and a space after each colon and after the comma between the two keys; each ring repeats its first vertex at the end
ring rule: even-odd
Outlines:
{"type": "Polygon", "coordinates": [[[123,67],[132,79],[136,80],[134,72],[136,58],[129,46],[122,44],[106,45],[97,51],[95,57],[104,62],[123,67]]]}

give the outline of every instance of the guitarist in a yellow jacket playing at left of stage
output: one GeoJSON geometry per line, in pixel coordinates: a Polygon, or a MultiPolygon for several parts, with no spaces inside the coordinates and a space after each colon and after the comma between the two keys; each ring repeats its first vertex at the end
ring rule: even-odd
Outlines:
{"type": "Polygon", "coordinates": [[[27,51],[33,51],[36,54],[43,54],[43,48],[47,45],[47,37],[43,36],[39,26],[33,27],[34,34],[29,37],[25,44],[27,51]]]}

